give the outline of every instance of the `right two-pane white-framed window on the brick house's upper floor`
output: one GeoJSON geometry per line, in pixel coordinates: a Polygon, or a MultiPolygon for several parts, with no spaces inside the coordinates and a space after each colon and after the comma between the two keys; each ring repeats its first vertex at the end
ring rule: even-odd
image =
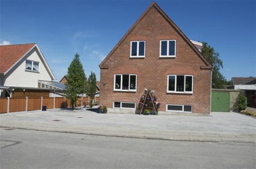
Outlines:
{"type": "Polygon", "coordinates": [[[160,57],[176,57],[176,40],[160,41],[160,57]]]}

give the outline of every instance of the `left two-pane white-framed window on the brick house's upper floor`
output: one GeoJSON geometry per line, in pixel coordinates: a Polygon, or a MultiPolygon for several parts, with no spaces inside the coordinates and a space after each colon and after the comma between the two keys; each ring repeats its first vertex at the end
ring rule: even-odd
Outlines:
{"type": "Polygon", "coordinates": [[[130,57],[145,57],[145,41],[130,42],[130,57]]]}

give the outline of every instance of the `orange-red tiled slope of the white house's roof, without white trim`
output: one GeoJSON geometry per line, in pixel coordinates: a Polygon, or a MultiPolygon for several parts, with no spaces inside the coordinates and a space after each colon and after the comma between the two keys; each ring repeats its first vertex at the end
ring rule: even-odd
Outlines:
{"type": "Polygon", "coordinates": [[[34,45],[35,43],[0,46],[0,73],[4,74],[34,45]]]}

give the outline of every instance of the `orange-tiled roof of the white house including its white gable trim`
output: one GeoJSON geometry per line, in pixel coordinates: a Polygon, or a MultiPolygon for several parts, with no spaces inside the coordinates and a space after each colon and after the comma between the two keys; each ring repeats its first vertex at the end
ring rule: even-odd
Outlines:
{"type": "Polygon", "coordinates": [[[3,45],[0,46],[0,74],[8,73],[16,64],[19,63],[31,50],[36,48],[39,52],[39,57],[48,70],[52,80],[56,80],[52,70],[50,69],[46,59],[36,43],[18,44],[18,45],[3,45]]]}

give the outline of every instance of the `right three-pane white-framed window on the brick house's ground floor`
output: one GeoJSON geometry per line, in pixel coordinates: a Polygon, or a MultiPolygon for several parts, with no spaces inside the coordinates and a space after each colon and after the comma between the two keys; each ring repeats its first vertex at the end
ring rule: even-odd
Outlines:
{"type": "Polygon", "coordinates": [[[167,92],[193,93],[193,76],[168,75],[167,77],[167,92]]]}

